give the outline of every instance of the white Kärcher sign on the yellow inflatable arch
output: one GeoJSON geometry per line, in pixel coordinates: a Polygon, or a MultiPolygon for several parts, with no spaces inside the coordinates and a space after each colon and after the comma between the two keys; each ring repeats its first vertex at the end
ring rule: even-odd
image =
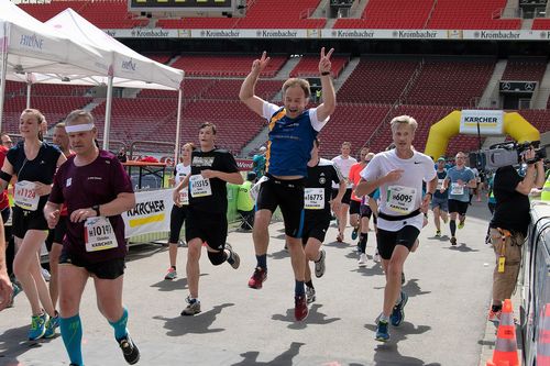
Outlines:
{"type": "Polygon", "coordinates": [[[504,131],[504,111],[463,110],[460,115],[460,133],[482,135],[502,135],[504,131]]]}

